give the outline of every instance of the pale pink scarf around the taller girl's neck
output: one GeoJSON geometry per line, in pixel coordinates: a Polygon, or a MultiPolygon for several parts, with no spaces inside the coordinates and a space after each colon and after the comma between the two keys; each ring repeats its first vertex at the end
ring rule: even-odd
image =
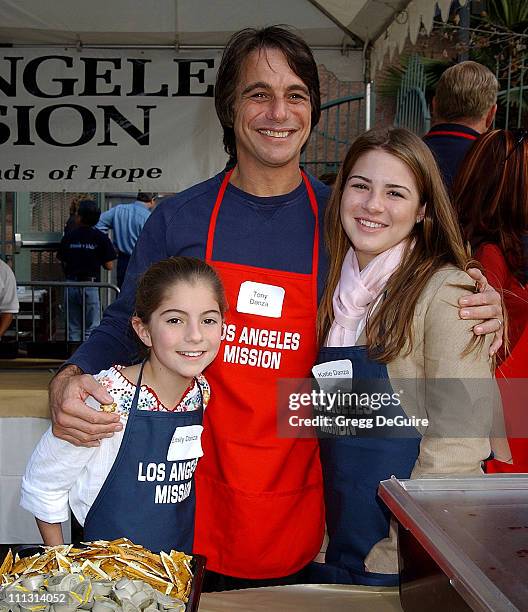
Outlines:
{"type": "Polygon", "coordinates": [[[356,345],[365,327],[369,307],[382,294],[390,276],[400,265],[406,244],[407,241],[402,240],[376,256],[361,271],[356,253],[350,248],[334,292],[334,322],[326,346],[356,345]]]}

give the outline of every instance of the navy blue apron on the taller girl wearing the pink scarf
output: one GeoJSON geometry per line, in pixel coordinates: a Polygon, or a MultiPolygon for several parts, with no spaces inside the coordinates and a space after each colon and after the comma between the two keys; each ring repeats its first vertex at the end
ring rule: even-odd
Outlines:
{"type": "MultiPolygon", "coordinates": [[[[387,366],[370,359],[365,346],[323,347],[317,363],[342,359],[352,362],[353,392],[394,393],[387,366]]],[[[376,415],[406,416],[397,402],[376,415]]],[[[392,475],[410,477],[420,434],[414,427],[356,428],[355,435],[321,437],[319,444],[329,544],[326,563],[311,564],[310,582],[396,586],[398,574],[367,572],[364,560],[389,535],[390,512],[377,495],[378,485],[392,475]]]]}

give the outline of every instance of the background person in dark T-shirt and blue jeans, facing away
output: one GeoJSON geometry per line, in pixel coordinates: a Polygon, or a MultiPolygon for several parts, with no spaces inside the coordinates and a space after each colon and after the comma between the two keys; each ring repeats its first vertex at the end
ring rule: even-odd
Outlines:
{"type": "MultiPolygon", "coordinates": [[[[94,228],[100,214],[93,200],[79,202],[77,227],[63,236],[57,251],[67,280],[95,283],[101,280],[101,266],[112,269],[116,258],[114,247],[108,236],[94,228]]],[[[68,287],[66,308],[68,340],[85,340],[101,322],[99,288],[68,287]]]]}

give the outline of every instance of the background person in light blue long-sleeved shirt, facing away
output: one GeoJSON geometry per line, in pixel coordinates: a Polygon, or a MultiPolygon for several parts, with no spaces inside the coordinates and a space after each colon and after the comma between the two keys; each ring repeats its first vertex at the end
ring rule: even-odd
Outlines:
{"type": "Polygon", "coordinates": [[[156,205],[153,193],[139,192],[136,201],[130,204],[118,204],[101,215],[96,229],[112,237],[117,249],[117,286],[121,289],[125,280],[126,269],[132,251],[136,246],[139,234],[156,205]]]}

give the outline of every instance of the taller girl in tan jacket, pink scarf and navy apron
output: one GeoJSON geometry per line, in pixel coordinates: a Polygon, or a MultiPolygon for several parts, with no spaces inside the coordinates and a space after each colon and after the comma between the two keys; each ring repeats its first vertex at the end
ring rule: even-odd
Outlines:
{"type": "Polygon", "coordinates": [[[394,586],[395,532],[379,482],[482,473],[492,407],[479,404],[477,433],[449,392],[411,407],[393,383],[406,379],[416,389],[418,379],[479,378],[493,385],[491,339],[479,346],[471,322],[458,316],[458,298],[474,288],[464,272],[469,260],[433,156],[412,133],[370,131],[356,139],[325,232],[330,272],[313,373],[321,389],[346,387],[355,399],[341,421],[327,413],[319,432],[329,541],[310,581],[394,586]]]}

